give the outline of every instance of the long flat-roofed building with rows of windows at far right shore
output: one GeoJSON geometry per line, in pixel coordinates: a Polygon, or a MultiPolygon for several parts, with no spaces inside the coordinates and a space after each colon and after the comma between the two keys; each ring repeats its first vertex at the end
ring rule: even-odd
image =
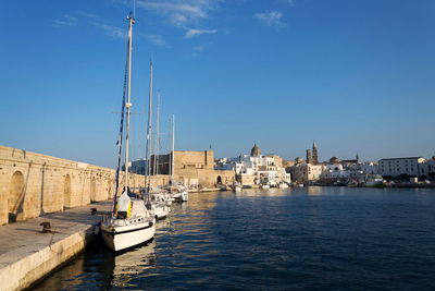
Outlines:
{"type": "Polygon", "coordinates": [[[422,157],[381,159],[378,162],[380,174],[383,177],[426,175],[427,170],[424,163],[425,159],[422,157]]]}

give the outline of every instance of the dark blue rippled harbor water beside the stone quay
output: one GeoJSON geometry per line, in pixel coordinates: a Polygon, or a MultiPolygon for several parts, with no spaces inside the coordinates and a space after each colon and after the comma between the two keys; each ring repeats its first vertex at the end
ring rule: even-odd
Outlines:
{"type": "Polygon", "coordinates": [[[36,290],[435,290],[435,190],[190,194],[146,246],[101,242],[36,290]]]}

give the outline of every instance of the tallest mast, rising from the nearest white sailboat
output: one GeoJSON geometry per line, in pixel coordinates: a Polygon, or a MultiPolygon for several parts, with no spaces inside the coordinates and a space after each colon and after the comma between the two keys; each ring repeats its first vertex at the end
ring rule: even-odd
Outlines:
{"type": "Polygon", "coordinates": [[[132,48],[133,48],[133,24],[135,19],[128,15],[128,82],[127,82],[127,102],[125,104],[126,109],[126,124],[125,124],[125,191],[128,187],[128,135],[129,135],[129,116],[132,107],[132,48]]]}

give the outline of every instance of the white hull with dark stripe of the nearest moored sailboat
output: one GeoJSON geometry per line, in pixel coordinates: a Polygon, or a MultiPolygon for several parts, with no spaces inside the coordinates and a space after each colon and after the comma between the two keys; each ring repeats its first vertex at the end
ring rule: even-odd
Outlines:
{"type": "Polygon", "coordinates": [[[115,252],[150,241],[154,233],[156,222],[114,228],[101,225],[101,234],[105,245],[115,252]]]}

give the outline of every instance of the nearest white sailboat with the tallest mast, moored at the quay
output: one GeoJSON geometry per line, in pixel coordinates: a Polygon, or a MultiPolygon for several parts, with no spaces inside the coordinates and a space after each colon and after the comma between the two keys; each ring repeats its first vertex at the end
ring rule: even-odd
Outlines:
{"type": "Polygon", "coordinates": [[[156,219],[150,211],[145,207],[144,199],[139,198],[129,192],[128,186],[128,134],[129,134],[129,118],[130,118],[130,93],[132,93],[132,45],[133,45],[133,24],[135,19],[128,17],[128,57],[124,97],[121,116],[120,136],[117,141],[117,169],[115,177],[115,194],[113,198],[113,208],[110,215],[103,217],[101,221],[101,234],[108,247],[119,252],[132,246],[150,241],[156,233],[156,219]],[[125,100],[126,97],[126,100],[125,100]],[[122,155],[123,141],[123,123],[124,113],[126,118],[126,134],[125,134],[125,179],[124,191],[120,197],[116,197],[120,181],[120,166],[122,155]]]}

